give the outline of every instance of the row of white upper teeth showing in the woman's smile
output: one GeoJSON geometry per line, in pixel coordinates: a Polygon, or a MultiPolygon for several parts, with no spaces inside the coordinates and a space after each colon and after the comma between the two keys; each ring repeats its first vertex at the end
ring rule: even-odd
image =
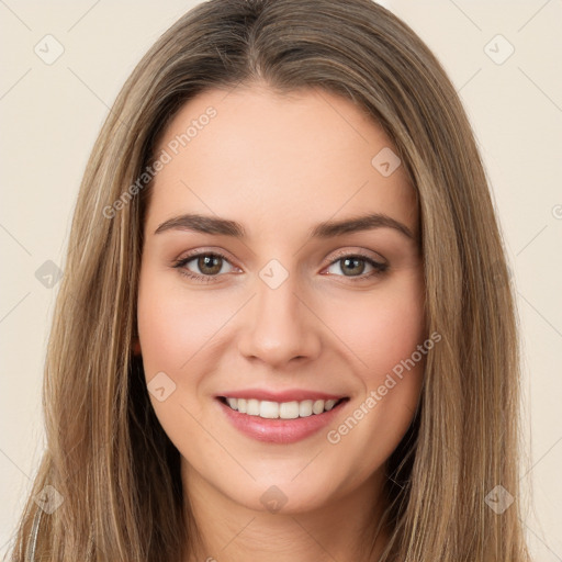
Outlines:
{"type": "Polygon", "coordinates": [[[318,415],[323,412],[329,412],[338,402],[337,400],[303,400],[302,402],[271,402],[259,401],[255,398],[226,398],[231,408],[240,414],[259,416],[266,419],[295,419],[297,417],[308,417],[313,414],[318,415]]]}

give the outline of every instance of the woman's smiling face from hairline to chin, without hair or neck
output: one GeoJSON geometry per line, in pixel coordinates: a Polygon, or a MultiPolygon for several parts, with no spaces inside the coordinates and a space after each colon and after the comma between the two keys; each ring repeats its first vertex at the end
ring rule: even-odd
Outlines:
{"type": "Polygon", "coordinates": [[[296,513],[380,488],[426,337],[418,214],[395,151],[325,91],[210,91],[167,127],[138,329],[191,494],[296,513]]]}

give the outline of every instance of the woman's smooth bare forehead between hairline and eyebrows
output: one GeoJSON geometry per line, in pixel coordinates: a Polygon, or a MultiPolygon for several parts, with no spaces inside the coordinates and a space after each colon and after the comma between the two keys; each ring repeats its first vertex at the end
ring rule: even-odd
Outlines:
{"type": "Polygon", "coordinates": [[[247,225],[251,237],[252,229],[279,235],[288,224],[373,211],[415,232],[415,192],[403,167],[384,176],[380,158],[373,165],[379,154],[392,158],[389,149],[396,151],[379,125],[326,91],[207,91],[161,136],[156,156],[166,153],[167,162],[154,180],[148,221],[213,213],[247,225]]]}

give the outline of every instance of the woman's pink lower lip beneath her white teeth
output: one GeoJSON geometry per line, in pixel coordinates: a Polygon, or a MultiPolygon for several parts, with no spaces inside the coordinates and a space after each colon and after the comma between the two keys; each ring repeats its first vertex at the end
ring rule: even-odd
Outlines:
{"type": "Polygon", "coordinates": [[[250,416],[240,414],[218,398],[216,398],[216,402],[231,424],[248,437],[269,443],[294,443],[316,434],[334,422],[348,401],[345,400],[329,412],[295,419],[266,419],[259,416],[250,416]]]}

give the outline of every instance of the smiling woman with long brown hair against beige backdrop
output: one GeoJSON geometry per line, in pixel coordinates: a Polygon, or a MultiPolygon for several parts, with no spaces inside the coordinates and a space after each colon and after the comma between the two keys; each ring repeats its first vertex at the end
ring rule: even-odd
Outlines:
{"type": "Polygon", "coordinates": [[[13,560],[527,561],[515,326],[419,37],[368,0],[202,3],[89,161],[13,560]]]}

